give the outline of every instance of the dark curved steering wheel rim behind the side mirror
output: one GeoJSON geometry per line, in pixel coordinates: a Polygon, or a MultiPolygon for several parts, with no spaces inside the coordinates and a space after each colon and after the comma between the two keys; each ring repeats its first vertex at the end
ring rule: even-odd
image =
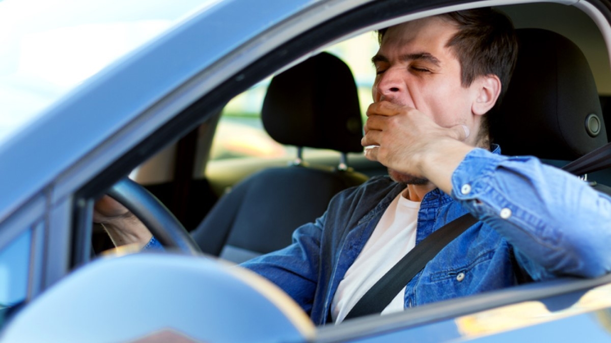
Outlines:
{"type": "Polygon", "coordinates": [[[176,248],[188,255],[202,253],[172,212],[137,182],[120,179],[108,190],[108,195],[136,215],[164,247],[176,248]]]}

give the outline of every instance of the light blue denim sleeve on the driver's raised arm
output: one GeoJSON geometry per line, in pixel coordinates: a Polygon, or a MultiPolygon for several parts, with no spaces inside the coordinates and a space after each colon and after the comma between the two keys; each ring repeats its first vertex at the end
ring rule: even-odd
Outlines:
{"type": "Polygon", "coordinates": [[[475,149],[452,175],[452,197],[514,247],[535,280],[611,270],[611,198],[535,157],[475,149]]]}

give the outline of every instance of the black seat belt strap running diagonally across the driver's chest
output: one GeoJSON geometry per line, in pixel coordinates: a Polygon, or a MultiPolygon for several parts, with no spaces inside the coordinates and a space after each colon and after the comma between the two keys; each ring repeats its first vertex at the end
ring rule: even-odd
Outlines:
{"type": "Polygon", "coordinates": [[[380,313],[414,276],[456,237],[477,223],[477,218],[465,214],[431,233],[410,250],[380,280],[363,295],[348,312],[346,319],[380,313]]]}

